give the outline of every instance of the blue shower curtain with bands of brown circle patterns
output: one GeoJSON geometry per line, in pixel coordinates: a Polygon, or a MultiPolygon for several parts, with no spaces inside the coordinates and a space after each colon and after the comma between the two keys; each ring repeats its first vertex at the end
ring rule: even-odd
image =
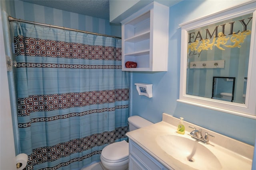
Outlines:
{"type": "Polygon", "coordinates": [[[129,74],[121,39],[12,23],[20,153],[26,169],[72,170],[126,140],[129,74]]]}

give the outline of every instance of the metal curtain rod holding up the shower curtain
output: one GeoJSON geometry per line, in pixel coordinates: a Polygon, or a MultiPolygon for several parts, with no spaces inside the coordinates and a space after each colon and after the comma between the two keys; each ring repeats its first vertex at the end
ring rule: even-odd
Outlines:
{"type": "Polygon", "coordinates": [[[81,32],[81,33],[88,33],[88,34],[93,34],[93,35],[102,35],[102,36],[105,36],[105,37],[112,37],[112,38],[122,39],[121,37],[115,37],[115,36],[112,36],[112,35],[92,33],[92,32],[89,32],[89,31],[82,31],[82,30],[78,30],[78,29],[60,27],[60,26],[50,25],[50,24],[46,24],[46,23],[39,23],[39,22],[35,22],[35,21],[26,21],[26,20],[16,19],[16,18],[13,18],[11,16],[8,16],[8,20],[9,20],[9,22],[18,21],[18,22],[24,22],[24,23],[32,23],[34,25],[41,25],[41,26],[45,26],[45,27],[59,28],[59,29],[65,29],[65,30],[69,30],[69,31],[76,31],[76,32],[81,32]]]}

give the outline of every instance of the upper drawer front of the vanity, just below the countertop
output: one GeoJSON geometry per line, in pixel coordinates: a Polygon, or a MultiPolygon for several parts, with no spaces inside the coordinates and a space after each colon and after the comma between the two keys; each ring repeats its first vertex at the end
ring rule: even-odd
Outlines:
{"type": "Polygon", "coordinates": [[[160,162],[142,150],[134,142],[129,141],[130,154],[140,162],[147,170],[167,170],[160,162]]]}

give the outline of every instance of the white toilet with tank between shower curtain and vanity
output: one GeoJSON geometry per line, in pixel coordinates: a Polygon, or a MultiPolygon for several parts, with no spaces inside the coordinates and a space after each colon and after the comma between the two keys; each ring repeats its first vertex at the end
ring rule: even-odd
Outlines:
{"type": "MultiPolygon", "coordinates": [[[[129,130],[133,131],[153,123],[140,116],[128,117],[129,130]]],[[[101,163],[108,170],[126,170],[129,162],[129,144],[126,141],[106,146],[100,155],[101,163]]]]}

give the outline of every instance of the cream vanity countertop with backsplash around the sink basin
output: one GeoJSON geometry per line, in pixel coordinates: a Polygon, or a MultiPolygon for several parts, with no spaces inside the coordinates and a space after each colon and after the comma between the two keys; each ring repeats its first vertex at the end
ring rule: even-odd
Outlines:
{"type": "Polygon", "coordinates": [[[126,135],[166,168],[175,170],[194,170],[191,166],[180,162],[161,149],[157,144],[156,138],[161,135],[177,135],[191,139],[188,131],[190,128],[188,128],[188,126],[196,127],[196,129],[202,129],[202,132],[207,131],[209,134],[215,136],[215,138],[209,137],[209,145],[201,142],[199,143],[204,145],[204,147],[209,149],[218,158],[222,170],[251,170],[254,150],[253,146],[220,135],[208,129],[198,127],[197,125],[186,121],[184,121],[186,133],[180,135],[176,132],[176,126],[174,126],[178,125],[178,122],[179,119],[163,113],[163,121],[135,131],[130,131],[126,135]]]}

